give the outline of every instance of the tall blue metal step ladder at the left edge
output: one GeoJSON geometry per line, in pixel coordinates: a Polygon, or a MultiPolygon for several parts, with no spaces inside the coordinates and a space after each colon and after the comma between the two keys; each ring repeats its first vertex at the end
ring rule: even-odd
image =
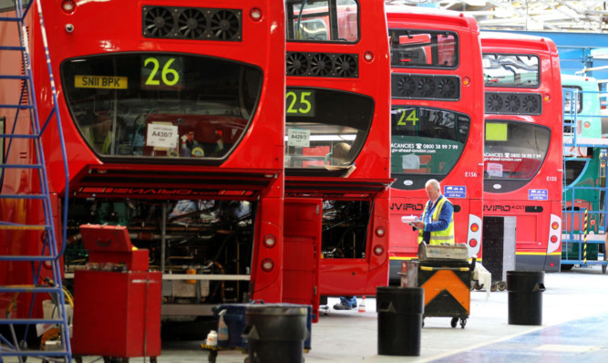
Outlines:
{"type": "MultiPolygon", "coordinates": [[[[16,67],[17,71],[13,74],[0,74],[0,87],[5,94],[6,88],[10,88],[6,87],[7,84],[21,83],[20,87],[10,91],[15,92],[14,97],[0,99],[0,207],[4,209],[0,211],[0,240],[4,240],[0,243],[0,362],[23,363],[27,358],[38,358],[44,362],[70,362],[66,300],[71,304],[71,297],[62,285],[60,261],[66,246],[67,208],[63,208],[62,212],[63,241],[61,249],[58,249],[54,207],[42,145],[47,126],[52,125],[51,128],[59,135],[58,140],[53,140],[57,142],[53,147],[57,150],[60,147],[63,155],[65,206],[68,193],[66,147],[40,1],[15,0],[14,4],[14,8],[3,9],[3,13],[0,13],[0,29],[5,29],[5,35],[0,35],[0,56],[5,57],[0,57],[0,60],[20,55],[23,66],[22,69],[16,67]],[[34,9],[37,10],[36,14],[34,9]],[[36,106],[28,24],[31,27],[39,26],[41,31],[52,90],[52,109],[42,125],[36,106]],[[15,39],[8,39],[11,34],[15,34],[15,39]],[[6,99],[15,102],[4,104],[6,99]],[[20,155],[26,154],[24,151],[31,156],[20,158],[20,155]],[[30,214],[44,215],[44,220],[32,222],[32,218],[26,218],[30,214]],[[25,251],[36,251],[36,254],[25,251]],[[39,305],[44,299],[50,299],[53,311],[47,314],[50,316],[41,318],[39,305]],[[39,340],[36,327],[38,333],[44,333],[39,340]],[[35,344],[31,344],[32,337],[35,344]]],[[[45,66],[38,61],[34,67],[45,66]]]]}

